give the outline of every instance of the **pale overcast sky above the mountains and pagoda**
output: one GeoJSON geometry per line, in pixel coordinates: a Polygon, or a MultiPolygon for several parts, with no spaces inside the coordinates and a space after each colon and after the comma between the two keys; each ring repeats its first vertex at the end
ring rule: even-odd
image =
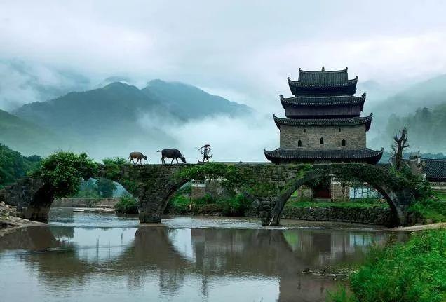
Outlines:
{"type": "MultiPolygon", "coordinates": [[[[41,83],[74,81],[59,71],[92,85],[109,76],[140,86],[162,78],[264,111],[290,95],[286,78],[299,67],[417,81],[444,72],[445,14],[446,1],[421,0],[0,0],[0,109],[14,106],[5,94],[29,82],[2,68],[11,61],[32,67],[41,83]]],[[[34,99],[26,92],[20,102],[34,99]]]]}

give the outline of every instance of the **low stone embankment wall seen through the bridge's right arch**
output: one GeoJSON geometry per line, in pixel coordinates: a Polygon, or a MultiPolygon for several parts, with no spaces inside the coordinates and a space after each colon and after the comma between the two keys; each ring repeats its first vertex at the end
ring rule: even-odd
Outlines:
{"type": "Polygon", "coordinates": [[[314,221],[342,221],[393,226],[393,213],[385,207],[285,207],[282,218],[314,221]]]}

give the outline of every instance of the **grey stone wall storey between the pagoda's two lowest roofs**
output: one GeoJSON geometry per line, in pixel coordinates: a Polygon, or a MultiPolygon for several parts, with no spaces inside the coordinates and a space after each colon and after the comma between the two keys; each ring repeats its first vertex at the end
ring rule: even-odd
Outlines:
{"type": "Polygon", "coordinates": [[[299,148],[299,139],[302,150],[328,150],[328,149],[365,149],[365,125],[354,126],[290,126],[281,125],[281,148],[299,148]],[[339,132],[339,130],[341,130],[339,132]],[[320,144],[323,137],[324,144],[320,144]],[[342,139],[346,146],[342,146],[342,139]]]}

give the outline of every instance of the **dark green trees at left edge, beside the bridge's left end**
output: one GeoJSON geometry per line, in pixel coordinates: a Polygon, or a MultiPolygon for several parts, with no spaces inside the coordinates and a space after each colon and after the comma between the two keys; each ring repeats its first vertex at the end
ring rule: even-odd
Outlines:
{"type": "Polygon", "coordinates": [[[22,156],[0,144],[0,188],[38,169],[40,161],[39,156],[22,156]]]}

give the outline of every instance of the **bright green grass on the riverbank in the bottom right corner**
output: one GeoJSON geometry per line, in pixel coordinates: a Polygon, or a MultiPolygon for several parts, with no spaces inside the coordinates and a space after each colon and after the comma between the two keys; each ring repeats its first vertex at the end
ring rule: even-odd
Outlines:
{"type": "Polygon", "coordinates": [[[446,229],[421,231],[405,244],[372,249],[333,302],[446,301],[446,229]]]}

